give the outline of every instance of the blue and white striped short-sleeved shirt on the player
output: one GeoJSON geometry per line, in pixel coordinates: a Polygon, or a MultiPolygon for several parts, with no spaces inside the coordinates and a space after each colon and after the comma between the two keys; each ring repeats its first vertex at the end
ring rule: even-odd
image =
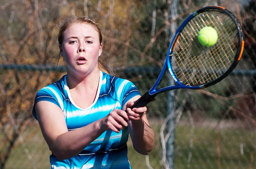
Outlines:
{"type": "MultiPolygon", "coordinates": [[[[84,127],[108,115],[114,109],[122,109],[134,96],[140,95],[135,85],[125,79],[100,72],[99,89],[95,101],[86,109],[78,107],[72,100],[66,82],[66,75],[55,83],[42,88],[35,97],[34,106],[39,101],[49,101],[63,111],[68,130],[84,127]]],[[[35,108],[32,113],[37,119],[35,108]]],[[[54,112],[53,112],[54,113],[54,112]]],[[[130,169],[127,158],[128,128],[116,133],[105,131],[80,154],[66,160],[50,156],[52,168],[101,168],[130,169]]]]}

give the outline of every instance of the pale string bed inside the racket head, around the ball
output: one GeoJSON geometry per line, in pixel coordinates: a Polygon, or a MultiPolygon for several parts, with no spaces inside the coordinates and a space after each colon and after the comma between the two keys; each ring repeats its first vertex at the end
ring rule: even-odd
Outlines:
{"type": "Polygon", "coordinates": [[[171,64],[176,77],[185,85],[198,86],[223,75],[234,61],[237,51],[237,30],[233,20],[218,11],[195,16],[180,33],[174,47],[171,64]],[[217,43],[202,46],[197,35],[205,26],[218,33],[217,43]]]}

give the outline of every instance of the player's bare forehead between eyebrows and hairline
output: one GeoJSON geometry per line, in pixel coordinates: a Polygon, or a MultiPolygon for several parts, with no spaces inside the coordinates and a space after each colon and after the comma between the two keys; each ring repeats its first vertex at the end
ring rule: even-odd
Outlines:
{"type": "Polygon", "coordinates": [[[68,38],[70,36],[91,36],[98,37],[98,32],[90,24],[86,23],[75,23],[70,25],[64,32],[64,37],[68,38]]]}

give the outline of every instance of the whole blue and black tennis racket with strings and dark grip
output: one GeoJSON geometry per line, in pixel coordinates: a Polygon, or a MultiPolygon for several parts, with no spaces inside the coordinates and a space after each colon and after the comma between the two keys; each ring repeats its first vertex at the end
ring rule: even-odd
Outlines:
{"type": "Polygon", "coordinates": [[[189,15],[174,34],[163,68],[153,87],[131,107],[142,107],[159,93],[174,89],[203,89],[225,78],[241,59],[244,38],[241,24],[227,9],[207,6],[189,15]],[[218,40],[211,47],[202,46],[199,31],[213,27],[218,40]],[[167,71],[168,70],[168,71],[167,71]],[[158,89],[165,72],[169,72],[174,86],[158,89]]]}

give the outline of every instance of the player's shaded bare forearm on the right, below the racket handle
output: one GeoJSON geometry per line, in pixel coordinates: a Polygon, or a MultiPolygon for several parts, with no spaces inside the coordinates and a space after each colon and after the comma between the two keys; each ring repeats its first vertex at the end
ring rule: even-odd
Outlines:
{"type": "Polygon", "coordinates": [[[154,148],[155,135],[146,118],[129,121],[129,132],[134,149],[143,155],[148,155],[154,148]]]}

